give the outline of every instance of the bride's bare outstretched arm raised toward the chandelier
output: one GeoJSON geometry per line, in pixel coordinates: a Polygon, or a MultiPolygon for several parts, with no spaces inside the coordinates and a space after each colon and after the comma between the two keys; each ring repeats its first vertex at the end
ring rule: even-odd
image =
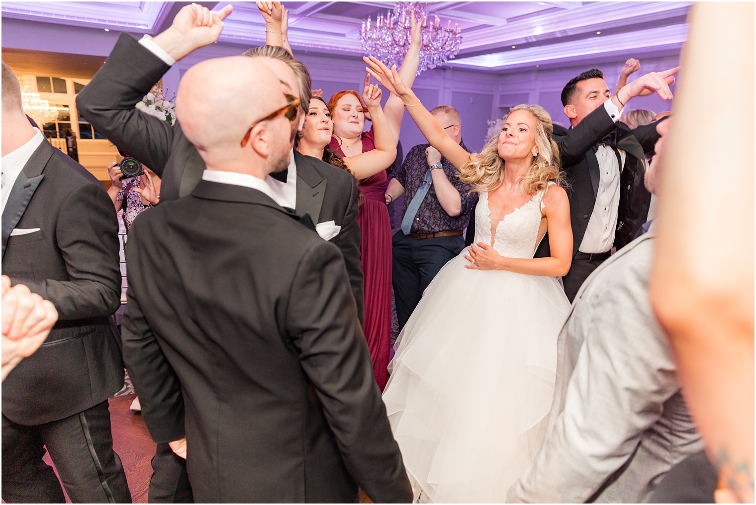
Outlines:
{"type": "Polygon", "coordinates": [[[417,123],[417,127],[420,128],[420,132],[423,132],[429,143],[438,149],[452,165],[459,169],[470,161],[470,154],[460,144],[457,144],[457,142],[446,135],[443,126],[423,107],[423,104],[420,103],[420,100],[411,88],[404,84],[396,71],[396,66],[389,69],[380,60],[376,60],[372,56],[369,58],[363,57],[362,59],[367,64],[365,70],[376,81],[380,82],[383,87],[391,91],[398,98],[401,98],[402,103],[407,106],[410,116],[417,123]]]}

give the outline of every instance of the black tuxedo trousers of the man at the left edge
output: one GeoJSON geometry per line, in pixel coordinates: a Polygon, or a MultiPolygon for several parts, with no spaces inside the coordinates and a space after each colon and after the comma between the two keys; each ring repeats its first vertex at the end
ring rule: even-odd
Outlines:
{"type": "Polygon", "coordinates": [[[73,503],[131,503],[113,451],[107,400],[51,423],[23,426],[2,416],[2,498],[8,503],[65,503],[45,447],[73,503]]]}

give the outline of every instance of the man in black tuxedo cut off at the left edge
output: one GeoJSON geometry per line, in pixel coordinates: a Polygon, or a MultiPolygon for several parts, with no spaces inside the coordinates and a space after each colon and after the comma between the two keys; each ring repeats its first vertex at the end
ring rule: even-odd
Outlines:
{"type": "Polygon", "coordinates": [[[97,179],[53,147],[2,64],[2,271],[48,299],[59,321],[2,387],[2,497],[130,503],[107,399],[123,386],[118,222],[97,179]]]}

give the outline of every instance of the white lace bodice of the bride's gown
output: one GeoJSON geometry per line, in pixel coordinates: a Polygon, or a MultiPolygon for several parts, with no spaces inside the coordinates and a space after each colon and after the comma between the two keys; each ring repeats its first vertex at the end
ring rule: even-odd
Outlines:
{"type": "MultiPolygon", "coordinates": [[[[549,185],[552,185],[550,182],[549,185]]],[[[523,206],[514,209],[492,227],[491,209],[488,209],[488,193],[480,195],[475,213],[475,241],[491,243],[491,228],[495,228],[494,249],[501,256],[532,258],[538,245],[538,228],[541,226],[541,210],[544,208],[545,191],[539,191],[523,206]]]]}

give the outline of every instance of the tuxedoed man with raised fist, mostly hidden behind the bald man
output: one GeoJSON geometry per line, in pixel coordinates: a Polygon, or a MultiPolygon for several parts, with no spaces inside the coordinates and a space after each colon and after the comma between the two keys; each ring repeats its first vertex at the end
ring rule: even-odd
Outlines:
{"type": "MultiPolygon", "coordinates": [[[[223,29],[222,20],[230,13],[231,5],[211,12],[192,4],[182,8],[172,25],[155,37],[144,36],[137,42],[122,33],[107,64],[76,97],[79,113],[98,132],[162,178],[163,202],[190,194],[202,178],[205,163],[187,140],[181,124],[169,125],[135,109],[135,105],[178,60],[215,42],[223,29]]],[[[245,54],[261,58],[287,83],[290,93],[299,96],[300,113],[294,126],[301,129],[312,96],[307,68],[283,48],[265,46],[245,54]]],[[[205,92],[212,94],[214,90],[206,88],[205,92]]],[[[274,200],[296,209],[299,215],[309,214],[318,225],[318,234],[339,246],[362,322],[364,291],[355,178],[293,150],[293,138],[291,150],[287,171],[268,177],[274,200]]]]}

